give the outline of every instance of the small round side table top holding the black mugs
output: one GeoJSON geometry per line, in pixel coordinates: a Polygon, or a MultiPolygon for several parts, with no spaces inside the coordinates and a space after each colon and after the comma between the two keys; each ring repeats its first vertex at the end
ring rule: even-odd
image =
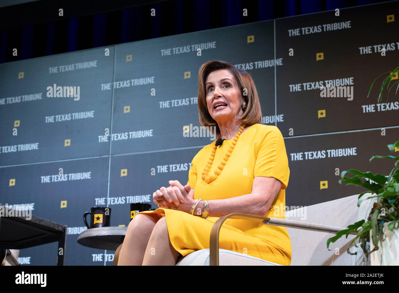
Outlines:
{"type": "Polygon", "coordinates": [[[91,228],[79,234],[77,243],[91,248],[117,250],[126,231],[127,227],[119,226],[91,228]]]}

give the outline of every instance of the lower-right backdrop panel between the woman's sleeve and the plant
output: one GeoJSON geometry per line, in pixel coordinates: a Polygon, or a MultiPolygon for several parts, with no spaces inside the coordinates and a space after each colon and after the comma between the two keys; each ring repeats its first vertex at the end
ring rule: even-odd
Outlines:
{"type": "MultiPolygon", "coordinates": [[[[374,158],[369,162],[369,159],[373,155],[397,155],[397,152],[391,153],[387,145],[395,143],[399,128],[387,128],[385,135],[381,133],[381,130],[369,130],[286,138],[284,143],[290,168],[286,205],[314,205],[367,191],[338,183],[342,171],[356,169],[389,175],[394,160],[374,158]],[[336,175],[337,168],[339,175],[336,175]],[[328,182],[323,185],[322,181],[328,182]]],[[[347,173],[347,177],[353,176],[347,173]]]]}

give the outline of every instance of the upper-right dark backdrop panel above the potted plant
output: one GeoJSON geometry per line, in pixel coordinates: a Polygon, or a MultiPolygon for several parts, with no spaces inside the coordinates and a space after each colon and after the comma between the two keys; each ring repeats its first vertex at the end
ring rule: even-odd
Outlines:
{"type": "Polygon", "coordinates": [[[276,51],[284,57],[284,65],[276,67],[277,114],[284,114],[277,126],[283,136],[398,125],[399,102],[393,90],[388,100],[392,110],[378,111],[375,105],[375,112],[366,112],[365,107],[376,104],[383,78],[367,98],[373,80],[399,66],[399,22],[387,22],[391,14],[399,14],[398,2],[379,4],[377,10],[374,5],[344,9],[340,16],[329,11],[276,20],[276,51]],[[344,25],[348,28],[328,27],[344,25]],[[375,51],[381,44],[386,56],[375,51]],[[365,53],[363,47],[369,46],[371,53],[365,53]],[[320,96],[320,87],[336,79],[349,83],[344,86],[352,87],[352,97],[320,96]],[[320,118],[319,110],[324,112],[320,118]]]}

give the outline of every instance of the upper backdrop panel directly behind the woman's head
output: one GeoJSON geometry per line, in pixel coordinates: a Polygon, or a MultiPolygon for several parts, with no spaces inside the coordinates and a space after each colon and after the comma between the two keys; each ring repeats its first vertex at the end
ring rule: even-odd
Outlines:
{"type": "Polygon", "coordinates": [[[112,153],[198,146],[213,141],[209,137],[183,137],[183,126],[199,125],[198,70],[213,59],[249,71],[257,85],[263,114],[273,115],[274,68],[259,68],[256,63],[273,56],[273,21],[117,45],[115,82],[121,83],[115,84],[118,88],[114,95],[113,133],[126,133],[126,139],[115,140],[112,153]],[[207,43],[211,43],[211,48],[197,56],[196,45],[207,43]],[[166,55],[169,51],[170,55],[166,55]],[[126,61],[130,57],[131,61],[126,61]],[[136,85],[134,80],[141,78],[149,78],[151,83],[136,85]],[[155,95],[151,95],[152,88],[155,95]],[[130,112],[125,112],[126,106],[130,106],[130,112]],[[149,130],[152,136],[137,138],[140,130],[149,130]]]}

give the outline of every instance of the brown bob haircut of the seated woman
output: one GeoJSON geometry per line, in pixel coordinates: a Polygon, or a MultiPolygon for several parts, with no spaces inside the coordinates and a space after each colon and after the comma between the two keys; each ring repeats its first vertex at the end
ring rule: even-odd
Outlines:
{"type": "MultiPolygon", "coordinates": [[[[205,81],[212,71],[219,69],[227,69],[235,78],[239,88],[241,89],[241,95],[244,101],[247,103],[243,115],[237,120],[237,124],[245,124],[245,126],[251,126],[253,124],[262,124],[262,110],[261,102],[259,102],[258,92],[255,87],[255,83],[251,75],[242,69],[238,69],[227,62],[212,60],[207,61],[201,65],[198,72],[198,116],[199,124],[202,126],[216,126],[216,134],[220,134],[219,126],[216,121],[213,120],[211,114],[209,114],[208,107],[206,104],[206,89],[205,81]],[[243,95],[244,88],[247,89],[247,95],[243,95]]],[[[241,108],[239,108],[239,111],[241,108]]],[[[238,115],[237,112],[236,115],[238,115]]]]}

